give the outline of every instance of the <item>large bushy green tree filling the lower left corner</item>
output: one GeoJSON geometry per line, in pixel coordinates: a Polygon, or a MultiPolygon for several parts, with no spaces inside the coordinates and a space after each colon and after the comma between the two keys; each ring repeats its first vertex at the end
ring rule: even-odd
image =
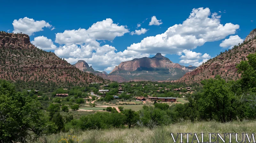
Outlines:
{"type": "Polygon", "coordinates": [[[28,130],[43,118],[40,108],[27,92],[16,93],[14,85],[0,80],[0,141],[24,141],[28,130]]]}

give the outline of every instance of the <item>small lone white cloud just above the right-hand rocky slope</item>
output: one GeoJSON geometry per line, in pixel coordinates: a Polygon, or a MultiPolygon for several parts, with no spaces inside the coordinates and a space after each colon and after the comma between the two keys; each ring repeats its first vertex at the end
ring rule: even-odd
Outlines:
{"type": "Polygon", "coordinates": [[[238,35],[229,36],[228,39],[223,40],[220,43],[220,47],[231,49],[234,45],[238,45],[238,43],[243,43],[243,39],[241,39],[238,35]]]}

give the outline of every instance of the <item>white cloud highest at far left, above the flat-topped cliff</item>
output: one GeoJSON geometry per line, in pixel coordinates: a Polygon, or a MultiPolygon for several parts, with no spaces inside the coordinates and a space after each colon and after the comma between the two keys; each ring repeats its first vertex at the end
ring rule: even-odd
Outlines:
{"type": "Polygon", "coordinates": [[[35,21],[34,19],[30,19],[27,17],[24,17],[23,19],[19,20],[13,20],[13,33],[25,33],[29,36],[32,35],[35,32],[43,31],[44,27],[52,27],[48,22],[45,22],[44,20],[35,21]]]}

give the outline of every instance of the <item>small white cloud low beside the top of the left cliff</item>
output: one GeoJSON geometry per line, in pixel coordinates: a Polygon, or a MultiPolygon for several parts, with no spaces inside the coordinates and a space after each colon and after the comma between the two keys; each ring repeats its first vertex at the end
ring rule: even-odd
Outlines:
{"type": "Polygon", "coordinates": [[[48,39],[44,36],[38,36],[34,38],[34,41],[31,41],[37,48],[42,50],[55,50],[57,46],[55,46],[51,39],[48,39]]]}

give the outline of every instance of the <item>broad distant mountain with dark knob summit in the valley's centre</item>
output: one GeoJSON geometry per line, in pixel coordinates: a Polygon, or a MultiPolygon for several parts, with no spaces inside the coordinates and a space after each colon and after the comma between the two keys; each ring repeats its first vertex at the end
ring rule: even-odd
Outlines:
{"type": "Polygon", "coordinates": [[[119,75],[127,81],[135,80],[177,80],[186,72],[196,67],[185,67],[173,63],[170,59],[157,53],[154,57],[135,58],[131,61],[122,62],[108,75],[119,75]]]}

